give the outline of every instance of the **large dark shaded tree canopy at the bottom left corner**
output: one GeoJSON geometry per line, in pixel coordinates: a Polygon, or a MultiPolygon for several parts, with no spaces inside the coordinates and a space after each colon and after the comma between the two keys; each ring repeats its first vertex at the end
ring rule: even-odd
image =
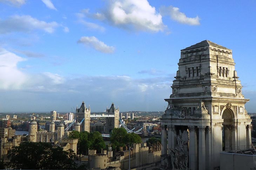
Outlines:
{"type": "MultiPolygon", "coordinates": [[[[63,151],[50,143],[21,142],[9,154],[15,169],[75,169],[74,151],[63,151]]],[[[9,167],[8,167],[9,168],[9,167]]]]}

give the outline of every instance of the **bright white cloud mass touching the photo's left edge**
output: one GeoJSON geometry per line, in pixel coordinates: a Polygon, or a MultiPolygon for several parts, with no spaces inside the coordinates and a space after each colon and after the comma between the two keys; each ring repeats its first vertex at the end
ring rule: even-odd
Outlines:
{"type": "Polygon", "coordinates": [[[26,59],[0,48],[0,89],[20,89],[27,80],[26,74],[17,67],[26,59]]]}

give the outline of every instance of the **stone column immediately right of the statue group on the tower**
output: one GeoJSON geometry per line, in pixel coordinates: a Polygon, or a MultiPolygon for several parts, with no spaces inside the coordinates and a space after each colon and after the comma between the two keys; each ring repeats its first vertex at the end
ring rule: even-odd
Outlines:
{"type": "Polygon", "coordinates": [[[197,170],[197,137],[195,126],[189,128],[189,169],[197,170]]]}

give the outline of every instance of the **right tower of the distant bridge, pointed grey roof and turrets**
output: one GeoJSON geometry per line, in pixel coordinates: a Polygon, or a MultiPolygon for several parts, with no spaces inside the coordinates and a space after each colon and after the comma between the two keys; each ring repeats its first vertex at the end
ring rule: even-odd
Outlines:
{"type": "Polygon", "coordinates": [[[110,108],[106,110],[106,114],[114,114],[115,117],[107,117],[106,118],[106,133],[110,133],[114,128],[118,128],[119,126],[119,107],[116,109],[114,103],[110,106],[110,108]]]}

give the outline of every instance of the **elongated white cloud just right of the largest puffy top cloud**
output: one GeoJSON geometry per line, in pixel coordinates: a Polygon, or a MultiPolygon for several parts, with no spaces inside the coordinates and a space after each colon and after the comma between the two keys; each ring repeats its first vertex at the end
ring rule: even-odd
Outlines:
{"type": "Polygon", "coordinates": [[[169,6],[169,7],[161,7],[160,13],[164,15],[169,15],[171,19],[178,21],[182,24],[188,25],[200,25],[200,18],[198,16],[194,18],[187,17],[186,14],[180,12],[180,9],[177,7],[169,6]]]}

